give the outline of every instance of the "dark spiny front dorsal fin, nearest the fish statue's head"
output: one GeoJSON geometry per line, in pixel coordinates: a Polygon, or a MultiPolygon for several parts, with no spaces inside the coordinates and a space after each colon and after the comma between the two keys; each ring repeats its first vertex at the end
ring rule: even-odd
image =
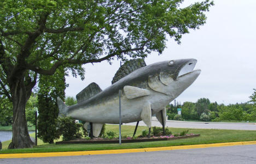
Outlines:
{"type": "Polygon", "coordinates": [[[143,59],[131,59],[125,62],[115,73],[113,77],[112,84],[119,81],[121,78],[125,77],[126,75],[130,74],[131,72],[146,66],[146,63],[143,59]]]}

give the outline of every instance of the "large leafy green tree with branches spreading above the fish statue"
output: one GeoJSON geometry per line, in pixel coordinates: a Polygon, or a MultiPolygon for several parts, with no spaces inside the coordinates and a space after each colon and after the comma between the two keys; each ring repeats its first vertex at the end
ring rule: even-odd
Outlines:
{"type": "Polygon", "coordinates": [[[206,22],[208,0],[3,0],[0,3],[0,93],[13,103],[9,148],[28,148],[25,106],[38,75],[59,66],[84,74],[82,64],[162,53],[167,36],[178,43],[206,22]]]}

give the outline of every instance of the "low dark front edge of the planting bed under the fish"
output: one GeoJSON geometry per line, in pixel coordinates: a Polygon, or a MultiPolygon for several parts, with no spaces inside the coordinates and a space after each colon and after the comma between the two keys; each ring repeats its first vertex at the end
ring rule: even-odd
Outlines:
{"type": "MultiPolygon", "coordinates": [[[[150,142],[150,141],[167,141],[167,140],[174,140],[174,139],[184,139],[184,138],[192,138],[192,137],[199,137],[200,134],[196,135],[188,135],[188,136],[178,136],[173,138],[137,138],[137,139],[122,139],[122,143],[133,143],[133,142],[150,142]]],[[[78,139],[73,141],[60,141],[56,142],[56,144],[80,144],[80,143],[119,143],[119,139],[78,139]]]]}

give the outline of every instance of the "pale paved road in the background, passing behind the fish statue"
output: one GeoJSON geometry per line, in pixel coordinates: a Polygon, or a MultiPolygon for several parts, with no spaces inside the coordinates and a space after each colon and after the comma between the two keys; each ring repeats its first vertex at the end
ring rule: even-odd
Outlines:
{"type": "MultiPolygon", "coordinates": [[[[136,125],[135,123],[127,123],[124,125],[136,125]]],[[[139,122],[139,126],[146,126],[144,122],[139,122]]],[[[152,121],[152,126],[162,125],[156,121],[152,121]]],[[[205,123],[205,122],[182,122],[167,120],[167,127],[196,128],[196,129],[230,129],[230,130],[256,130],[256,123],[205,123]]]]}

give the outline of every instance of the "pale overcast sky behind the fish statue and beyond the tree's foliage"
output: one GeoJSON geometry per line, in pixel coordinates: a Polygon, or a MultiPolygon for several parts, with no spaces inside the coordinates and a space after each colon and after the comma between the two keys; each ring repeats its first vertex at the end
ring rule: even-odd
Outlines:
{"type": "MultiPolygon", "coordinates": [[[[185,0],[184,6],[193,2],[197,1],[185,0]]],[[[181,45],[168,39],[160,56],[153,52],[145,59],[147,65],[171,59],[197,59],[195,69],[202,72],[177,101],[208,98],[219,104],[235,104],[247,102],[256,88],[256,1],[216,0],[214,4],[206,13],[206,24],[183,35],[181,45]]],[[[75,96],[91,82],[107,88],[119,66],[117,60],[112,65],[84,65],[84,81],[66,77],[66,96],[75,96]]]]}

